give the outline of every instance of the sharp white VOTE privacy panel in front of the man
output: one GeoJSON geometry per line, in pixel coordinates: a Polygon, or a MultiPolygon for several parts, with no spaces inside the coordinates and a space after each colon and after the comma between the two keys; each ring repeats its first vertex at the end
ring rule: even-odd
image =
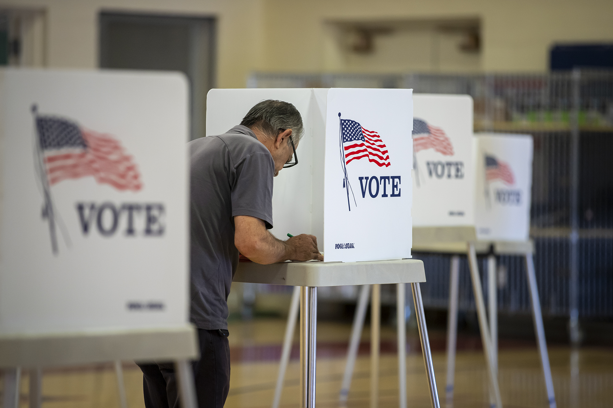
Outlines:
{"type": "Polygon", "coordinates": [[[273,229],[318,237],[326,262],[411,257],[411,89],[211,89],[207,136],[261,100],[302,115],[299,164],[275,178],[273,229]]]}

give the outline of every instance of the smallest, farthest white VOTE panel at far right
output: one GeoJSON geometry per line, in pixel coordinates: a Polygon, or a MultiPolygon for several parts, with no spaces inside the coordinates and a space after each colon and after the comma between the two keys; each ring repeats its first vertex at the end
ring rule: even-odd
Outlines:
{"type": "Polygon", "coordinates": [[[479,240],[528,241],[532,143],[530,135],[475,135],[474,205],[479,240]]]}

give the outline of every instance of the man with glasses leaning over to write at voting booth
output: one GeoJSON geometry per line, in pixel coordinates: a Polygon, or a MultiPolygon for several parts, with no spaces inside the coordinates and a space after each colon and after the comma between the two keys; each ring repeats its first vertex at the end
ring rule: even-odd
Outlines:
{"type": "MultiPolygon", "coordinates": [[[[223,407],[230,384],[227,297],[238,256],[257,263],[323,260],[317,238],[275,238],[273,176],[297,164],[303,134],[294,105],[264,100],[223,135],[189,142],[191,312],[200,360],[192,363],[199,407],[223,407]]],[[[139,364],[147,408],[178,407],[172,363],[139,364]]]]}

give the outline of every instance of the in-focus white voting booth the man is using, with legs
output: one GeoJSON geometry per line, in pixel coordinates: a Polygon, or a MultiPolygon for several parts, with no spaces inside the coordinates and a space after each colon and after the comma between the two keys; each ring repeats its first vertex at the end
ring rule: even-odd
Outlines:
{"type": "MultiPolygon", "coordinates": [[[[411,282],[423,315],[418,283],[425,281],[423,263],[408,259],[411,89],[212,89],[207,135],[226,132],[266,99],[294,104],[305,127],[297,147],[299,164],[275,179],[271,232],[280,239],[287,233],[316,235],[325,262],[241,262],[234,281],[295,286],[273,406],[280,401],[300,300],[300,404],[314,407],[317,286],[373,284],[378,289],[378,284],[402,283],[398,286],[404,290],[411,282]]],[[[432,403],[438,407],[424,319],[419,327],[432,403]]],[[[403,366],[400,371],[405,378],[403,366]]],[[[377,367],[372,381],[378,382],[377,367]]]]}

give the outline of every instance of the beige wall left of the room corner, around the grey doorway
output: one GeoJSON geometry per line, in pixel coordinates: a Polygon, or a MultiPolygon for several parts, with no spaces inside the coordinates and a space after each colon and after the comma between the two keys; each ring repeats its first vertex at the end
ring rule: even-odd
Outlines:
{"type": "Polygon", "coordinates": [[[97,67],[98,13],[116,10],[217,17],[220,87],[243,88],[249,72],[261,69],[260,0],[2,0],[0,7],[45,9],[49,67],[97,67]]]}

